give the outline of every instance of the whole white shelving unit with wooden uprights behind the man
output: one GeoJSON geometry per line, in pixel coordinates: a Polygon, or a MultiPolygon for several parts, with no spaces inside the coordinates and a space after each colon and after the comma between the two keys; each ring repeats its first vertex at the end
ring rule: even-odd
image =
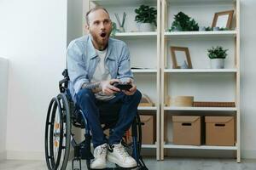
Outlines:
{"type": "Polygon", "coordinates": [[[132,69],[137,88],[148,94],[155,104],[154,107],[138,107],[138,110],[155,113],[157,119],[156,144],[143,144],[143,148],[156,149],[157,160],[164,160],[166,150],[172,152],[173,149],[230,150],[236,152],[236,161],[240,162],[240,0],[90,0],[89,7],[95,5],[107,8],[114,22],[114,13],[120,18],[124,11],[128,14],[125,32],[117,32],[115,38],[129,46],[131,67],[140,68],[132,69]],[[141,4],[157,8],[155,31],[137,31],[134,9],[141,4]],[[174,14],[179,11],[189,14],[199,26],[211,26],[214,13],[230,8],[235,11],[230,31],[168,31],[174,14]],[[217,45],[229,49],[224,69],[209,68],[207,48],[217,45]],[[193,69],[172,69],[170,46],[188,47],[193,69]],[[170,106],[166,105],[168,95],[192,95],[195,101],[234,101],[236,107],[170,106]],[[172,136],[168,116],[189,112],[200,116],[236,116],[236,145],[178,145],[172,144],[172,138],[166,140],[166,135],[172,136]]]}

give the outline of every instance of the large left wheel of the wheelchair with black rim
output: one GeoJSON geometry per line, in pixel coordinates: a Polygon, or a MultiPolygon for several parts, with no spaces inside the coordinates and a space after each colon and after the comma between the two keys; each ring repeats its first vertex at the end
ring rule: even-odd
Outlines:
{"type": "Polygon", "coordinates": [[[67,167],[70,149],[70,111],[65,94],[51,99],[46,117],[44,150],[47,167],[50,170],[67,167]]]}

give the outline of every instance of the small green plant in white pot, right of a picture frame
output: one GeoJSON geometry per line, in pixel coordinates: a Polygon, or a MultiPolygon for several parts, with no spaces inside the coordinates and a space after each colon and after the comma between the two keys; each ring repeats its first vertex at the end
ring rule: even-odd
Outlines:
{"type": "Polygon", "coordinates": [[[207,49],[208,57],[211,60],[211,68],[212,69],[223,69],[224,68],[224,59],[227,56],[228,49],[224,49],[221,46],[217,46],[216,48],[212,47],[207,49]]]}

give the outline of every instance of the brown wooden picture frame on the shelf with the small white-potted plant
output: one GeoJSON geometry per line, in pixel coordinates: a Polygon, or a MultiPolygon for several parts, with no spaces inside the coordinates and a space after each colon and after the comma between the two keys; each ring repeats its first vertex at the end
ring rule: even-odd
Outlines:
{"type": "Polygon", "coordinates": [[[184,52],[185,58],[187,61],[187,68],[186,69],[192,69],[192,63],[190,59],[190,54],[189,54],[189,48],[186,47],[176,47],[176,46],[171,46],[171,54],[172,54],[172,69],[181,69],[181,65],[177,64],[177,54],[176,52],[184,52]]]}

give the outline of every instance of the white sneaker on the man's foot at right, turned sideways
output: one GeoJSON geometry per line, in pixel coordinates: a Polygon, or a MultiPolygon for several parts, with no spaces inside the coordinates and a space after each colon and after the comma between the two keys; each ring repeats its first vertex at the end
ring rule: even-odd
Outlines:
{"type": "Polygon", "coordinates": [[[129,156],[122,144],[113,144],[109,147],[107,159],[120,167],[137,167],[137,161],[129,156]]]}

